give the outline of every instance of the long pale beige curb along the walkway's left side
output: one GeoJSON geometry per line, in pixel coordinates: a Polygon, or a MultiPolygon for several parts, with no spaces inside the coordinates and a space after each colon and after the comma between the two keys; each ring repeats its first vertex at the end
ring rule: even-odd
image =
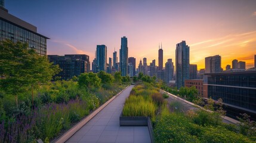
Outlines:
{"type": "Polygon", "coordinates": [[[98,107],[96,110],[94,110],[91,114],[89,114],[85,119],[78,122],[75,126],[73,126],[71,129],[67,130],[63,135],[58,138],[55,143],[63,143],[66,142],[67,139],[69,139],[72,135],[74,135],[79,129],[81,129],[87,122],[89,122],[95,115],[97,115],[104,107],[107,106],[111,101],[115,100],[118,95],[120,95],[125,89],[127,89],[129,86],[124,88],[122,91],[120,91],[118,94],[110,98],[107,102],[105,102],[103,105],[98,107]]]}

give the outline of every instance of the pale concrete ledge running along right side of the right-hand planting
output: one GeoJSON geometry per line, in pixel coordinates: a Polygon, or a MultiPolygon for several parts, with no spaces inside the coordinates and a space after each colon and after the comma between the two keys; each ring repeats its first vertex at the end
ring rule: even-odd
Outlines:
{"type": "MultiPolygon", "coordinates": [[[[201,106],[199,106],[199,105],[193,104],[192,102],[183,100],[182,98],[177,97],[176,95],[173,95],[173,94],[170,94],[169,92],[163,91],[162,89],[160,89],[160,91],[161,91],[161,92],[164,92],[165,94],[168,94],[168,95],[170,95],[170,96],[172,96],[172,97],[175,97],[175,98],[177,98],[177,99],[180,100],[180,101],[186,102],[187,104],[190,104],[190,105],[193,105],[193,106],[195,106],[195,107],[201,108],[202,110],[205,110],[205,111],[212,112],[212,111],[210,111],[210,110],[206,110],[205,108],[203,108],[203,107],[201,107],[201,106]]],[[[239,123],[240,123],[238,120],[232,119],[232,118],[227,117],[227,116],[223,116],[222,118],[223,118],[223,120],[226,120],[227,122],[232,123],[233,125],[239,125],[239,123]]]]}

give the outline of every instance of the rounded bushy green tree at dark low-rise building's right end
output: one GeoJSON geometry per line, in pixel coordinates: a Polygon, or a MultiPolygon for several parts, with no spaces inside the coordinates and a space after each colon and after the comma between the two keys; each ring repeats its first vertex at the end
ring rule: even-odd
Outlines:
{"type": "Polygon", "coordinates": [[[96,73],[82,73],[78,77],[78,85],[80,87],[90,88],[99,88],[101,84],[101,79],[98,78],[96,73]]]}

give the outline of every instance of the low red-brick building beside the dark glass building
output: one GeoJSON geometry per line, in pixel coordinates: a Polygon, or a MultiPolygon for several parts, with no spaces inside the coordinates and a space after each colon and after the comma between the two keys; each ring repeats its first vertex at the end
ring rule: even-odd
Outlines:
{"type": "Polygon", "coordinates": [[[203,97],[203,80],[202,79],[186,79],[185,87],[190,88],[192,86],[195,86],[196,89],[198,89],[199,97],[203,97]]]}

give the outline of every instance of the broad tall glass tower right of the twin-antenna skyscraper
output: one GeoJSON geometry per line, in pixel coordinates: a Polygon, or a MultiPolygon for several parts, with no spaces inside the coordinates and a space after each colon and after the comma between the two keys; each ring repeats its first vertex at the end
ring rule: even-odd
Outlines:
{"type": "Polygon", "coordinates": [[[189,46],[186,41],[177,43],[175,52],[176,86],[180,89],[184,86],[185,79],[189,79],[189,46]]]}

